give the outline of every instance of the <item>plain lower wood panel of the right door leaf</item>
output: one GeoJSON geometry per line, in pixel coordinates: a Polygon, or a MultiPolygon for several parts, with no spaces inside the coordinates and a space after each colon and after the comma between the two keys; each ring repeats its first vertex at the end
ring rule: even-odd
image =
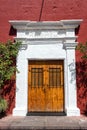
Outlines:
{"type": "Polygon", "coordinates": [[[46,93],[46,111],[63,110],[63,91],[61,88],[49,88],[46,93]]]}

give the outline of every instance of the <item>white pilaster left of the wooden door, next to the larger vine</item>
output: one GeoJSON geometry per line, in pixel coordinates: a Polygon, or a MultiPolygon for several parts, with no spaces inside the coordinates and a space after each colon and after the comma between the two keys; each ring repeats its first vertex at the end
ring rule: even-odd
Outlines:
{"type": "Polygon", "coordinates": [[[17,68],[16,73],[16,104],[13,109],[14,116],[26,116],[27,114],[27,65],[26,49],[24,46],[19,50],[17,57],[17,68]],[[26,69],[25,69],[26,68],[26,69]]]}

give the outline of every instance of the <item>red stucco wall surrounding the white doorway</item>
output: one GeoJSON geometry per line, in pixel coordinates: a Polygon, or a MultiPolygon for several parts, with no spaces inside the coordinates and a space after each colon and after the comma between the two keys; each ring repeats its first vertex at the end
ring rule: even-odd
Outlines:
{"type": "MultiPolygon", "coordinates": [[[[16,35],[9,20],[56,21],[62,19],[83,19],[77,33],[77,41],[87,41],[87,0],[0,0],[0,41],[5,42],[16,35]]],[[[79,52],[76,52],[76,59],[78,107],[81,112],[84,112],[87,109],[87,96],[85,96],[87,79],[84,80],[81,76],[84,73],[84,65],[80,61],[79,52]]],[[[9,99],[9,96],[7,98],[9,99]]],[[[10,105],[8,111],[11,112],[13,107],[14,103],[10,105]]]]}

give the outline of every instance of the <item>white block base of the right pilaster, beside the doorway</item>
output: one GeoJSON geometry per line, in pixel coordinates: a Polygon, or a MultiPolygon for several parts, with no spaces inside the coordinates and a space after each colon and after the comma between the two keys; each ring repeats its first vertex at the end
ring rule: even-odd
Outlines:
{"type": "Polygon", "coordinates": [[[79,108],[67,108],[66,109],[67,116],[80,116],[79,108]]]}

